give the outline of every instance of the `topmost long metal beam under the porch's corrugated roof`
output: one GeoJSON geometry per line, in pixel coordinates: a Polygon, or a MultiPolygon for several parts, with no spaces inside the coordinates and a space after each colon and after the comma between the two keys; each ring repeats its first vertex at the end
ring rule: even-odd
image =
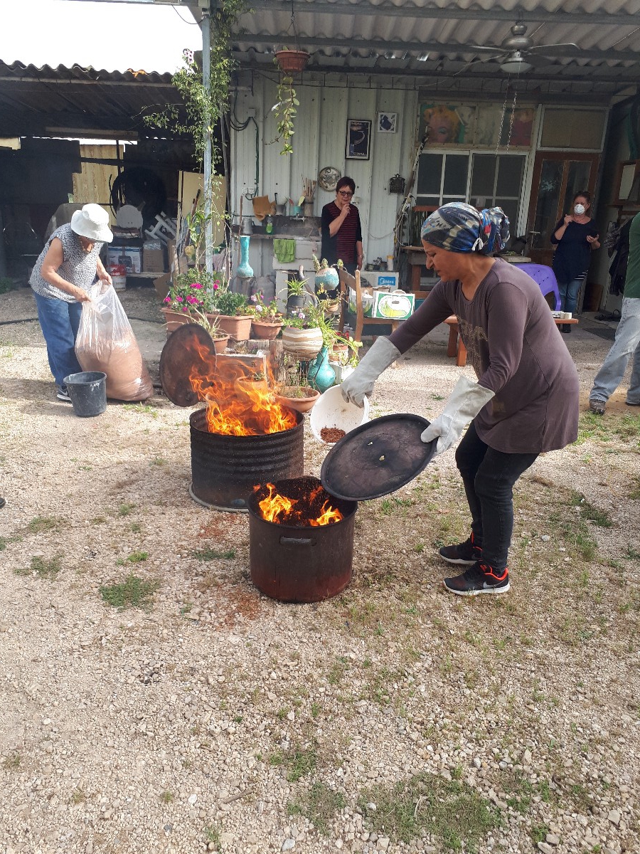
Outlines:
{"type": "MultiPolygon", "coordinates": [[[[216,0],[212,0],[212,6],[216,0]]],[[[392,3],[381,3],[373,5],[370,3],[358,3],[354,5],[348,0],[334,0],[327,3],[326,0],[294,0],[294,11],[297,15],[309,12],[312,15],[376,15],[385,18],[435,18],[442,20],[505,20],[513,24],[515,21],[522,23],[547,22],[553,24],[593,24],[600,26],[640,26],[640,15],[629,15],[625,12],[547,12],[544,9],[527,12],[525,9],[458,9],[452,3],[440,9],[437,6],[417,6],[407,3],[402,6],[394,6],[392,3]]],[[[291,0],[260,0],[260,11],[283,12],[291,15],[291,0]]]]}

